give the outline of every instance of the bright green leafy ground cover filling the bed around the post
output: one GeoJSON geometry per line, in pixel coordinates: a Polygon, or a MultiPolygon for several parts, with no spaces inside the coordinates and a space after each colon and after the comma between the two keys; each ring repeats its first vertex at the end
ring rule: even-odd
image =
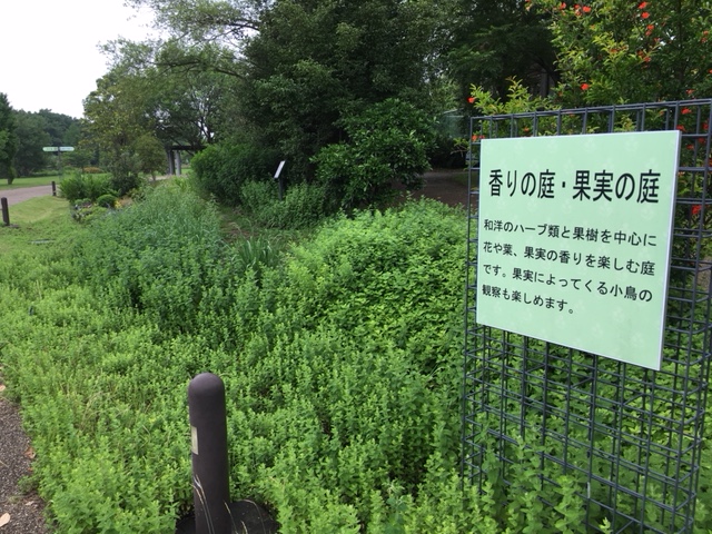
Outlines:
{"type": "Polygon", "coordinates": [[[461,490],[462,210],[409,202],[273,247],[227,241],[177,182],[72,228],[0,256],[0,373],[56,532],[172,532],[206,370],[226,384],[231,496],[281,532],[582,532],[573,485],[545,507],[524,448],[515,492],[461,490]]]}

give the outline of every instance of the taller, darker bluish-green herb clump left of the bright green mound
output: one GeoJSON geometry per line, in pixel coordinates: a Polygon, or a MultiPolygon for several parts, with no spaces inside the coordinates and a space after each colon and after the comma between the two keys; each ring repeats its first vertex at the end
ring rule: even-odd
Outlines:
{"type": "Polygon", "coordinates": [[[105,218],[78,244],[79,273],[112,304],[150,314],[168,333],[195,325],[224,241],[217,211],[172,184],[105,218]]]}

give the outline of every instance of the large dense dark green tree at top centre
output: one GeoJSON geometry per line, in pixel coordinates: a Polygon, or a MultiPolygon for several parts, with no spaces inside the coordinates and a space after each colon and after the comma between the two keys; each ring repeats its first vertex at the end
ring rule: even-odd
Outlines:
{"type": "Polygon", "coordinates": [[[342,120],[396,97],[433,111],[445,17],[432,0],[281,0],[244,55],[243,111],[260,141],[309,174],[342,120]]]}

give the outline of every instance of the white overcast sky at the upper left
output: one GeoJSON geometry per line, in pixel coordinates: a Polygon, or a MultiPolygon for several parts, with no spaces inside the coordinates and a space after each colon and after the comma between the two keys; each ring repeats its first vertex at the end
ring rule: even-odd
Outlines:
{"type": "Polygon", "coordinates": [[[10,106],[77,118],[108,70],[98,44],[150,32],[150,17],[123,0],[0,0],[0,92],[10,106]]]}

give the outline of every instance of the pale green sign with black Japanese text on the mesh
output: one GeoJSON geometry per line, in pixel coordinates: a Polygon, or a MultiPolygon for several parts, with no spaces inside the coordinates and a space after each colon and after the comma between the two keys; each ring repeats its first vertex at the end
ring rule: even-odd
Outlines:
{"type": "Polygon", "coordinates": [[[679,131],[485,139],[477,323],[660,369],[679,131]]]}

